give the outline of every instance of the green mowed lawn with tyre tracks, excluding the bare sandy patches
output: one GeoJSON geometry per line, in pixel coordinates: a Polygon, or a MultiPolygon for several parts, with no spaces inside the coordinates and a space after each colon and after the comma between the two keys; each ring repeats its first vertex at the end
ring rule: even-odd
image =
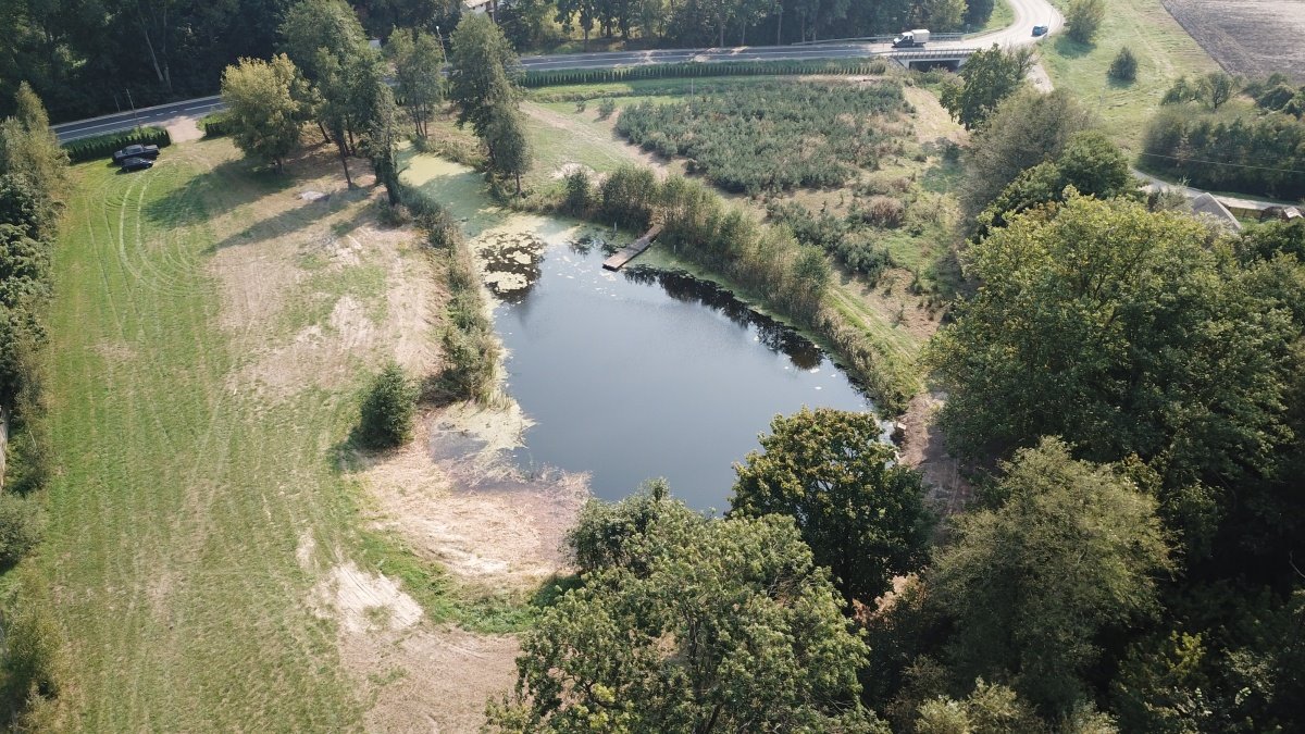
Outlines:
{"type": "MultiPolygon", "coordinates": [[[[290,341],[313,308],[287,296],[290,316],[224,324],[211,266],[228,248],[254,260],[317,217],[262,208],[296,200],[301,182],[251,175],[227,141],[166,149],[138,174],[73,175],[50,329],[60,469],[39,556],[72,662],[64,724],[358,729],[363,703],[296,549],[350,543],[354,494],[333,447],[375,355],[337,389],[241,389],[240,345],[290,341]]],[[[369,206],[331,199],[321,217],[342,230],[369,206]]],[[[375,283],[360,287],[371,303],[375,283]]]]}

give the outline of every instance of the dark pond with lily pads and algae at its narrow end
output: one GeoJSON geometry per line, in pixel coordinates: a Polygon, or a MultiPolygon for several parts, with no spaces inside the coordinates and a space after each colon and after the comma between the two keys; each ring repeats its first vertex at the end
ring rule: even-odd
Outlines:
{"type": "Polygon", "coordinates": [[[506,391],[532,422],[514,452],[523,469],[589,473],[604,499],[666,477],[723,511],[733,462],[776,414],[870,407],[814,345],[727,291],[638,259],[603,270],[592,231],[497,212],[461,166],[420,157],[406,175],[466,219],[485,263],[506,391]]]}

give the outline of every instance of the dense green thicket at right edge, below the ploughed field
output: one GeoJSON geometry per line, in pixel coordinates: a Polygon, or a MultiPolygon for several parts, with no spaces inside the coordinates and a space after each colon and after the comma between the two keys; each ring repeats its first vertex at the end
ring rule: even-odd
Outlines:
{"type": "Polygon", "coordinates": [[[1142,142],[1147,168],[1190,185],[1280,199],[1305,196],[1305,120],[1284,112],[1199,114],[1163,107],[1142,142]]]}

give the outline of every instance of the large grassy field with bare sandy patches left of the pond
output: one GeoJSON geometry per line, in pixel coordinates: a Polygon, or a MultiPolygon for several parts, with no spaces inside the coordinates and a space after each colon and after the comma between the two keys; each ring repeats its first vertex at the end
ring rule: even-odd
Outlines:
{"type": "Polygon", "coordinates": [[[347,448],[385,359],[437,363],[442,295],[416,232],[331,158],[275,176],[218,140],[73,171],[35,559],[72,661],[54,727],[474,729],[512,680],[514,639],[478,631],[512,628],[510,599],[437,556],[519,546],[515,516],[502,498],[432,511],[450,479],[424,443],[347,448]],[[444,534],[419,547],[414,522],[444,534]]]}

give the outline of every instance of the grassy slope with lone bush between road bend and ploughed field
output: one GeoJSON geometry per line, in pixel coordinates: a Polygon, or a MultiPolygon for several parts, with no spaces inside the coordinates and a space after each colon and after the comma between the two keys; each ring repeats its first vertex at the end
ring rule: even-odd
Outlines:
{"type": "MultiPolygon", "coordinates": [[[[1067,0],[1054,0],[1064,12],[1067,0]]],[[[1105,22],[1096,42],[1075,43],[1061,33],[1039,46],[1052,84],[1073,91],[1096,110],[1107,132],[1131,153],[1160,98],[1178,77],[1218,71],[1219,65],[1164,9],[1160,0],[1105,0],[1105,22]],[[1137,81],[1107,77],[1111,61],[1128,47],[1138,59],[1137,81]]]]}

